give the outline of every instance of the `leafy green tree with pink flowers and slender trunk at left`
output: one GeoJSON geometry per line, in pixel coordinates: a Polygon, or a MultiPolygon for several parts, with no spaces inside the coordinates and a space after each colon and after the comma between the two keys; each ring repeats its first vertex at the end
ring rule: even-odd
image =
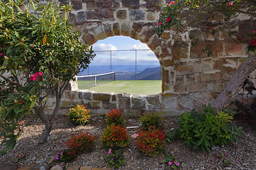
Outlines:
{"type": "Polygon", "coordinates": [[[18,121],[32,108],[45,124],[40,143],[46,142],[65,88],[94,57],[89,44],[80,42],[79,31],[69,24],[71,6],[49,3],[35,8],[32,0],[26,4],[0,2],[0,134],[9,148],[21,132],[18,121]],[[28,13],[31,8],[37,14],[28,13]],[[47,116],[44,108],[51,94],[56,105],[47,116]]]}

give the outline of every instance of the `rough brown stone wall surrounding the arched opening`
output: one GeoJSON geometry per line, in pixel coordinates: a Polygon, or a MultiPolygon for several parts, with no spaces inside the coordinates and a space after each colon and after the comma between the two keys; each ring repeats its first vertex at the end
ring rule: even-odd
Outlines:
{"type": "MultiPolygon", "coordinates": [[[[58,5],[73,5],[70,21],[77,30],[82,31],[82,40],[94,44],[114,35],[129,36],[147,44],[162,66],[163,94],[144,97],[88,91],[67,91],[67,94],[78,96],[75,97],[76,100],[94,109],[184,111],[213,101],[223,91],[233,72],[248,55],[252,55],[245,50],[246,44],[238,43],[238,40],[244,38],[250,28],[255,26],[233,28],[238,33],[236,37],[225,33],[212,34],[211,26],[208,26],[191,28],[180,35],[167,32],[158,38],[154,34],[154,26],[160,14],[159,6],[169,2],[170,0],[56,1],[58,5]],[[206,47],[212,50],[213,55],[208,56],[202,52],[206,47]],[[106,101],[101,100],[105,97],[106,101]],[[158,104],[151,108],[152,101],[158,104]]],[[[255,72],[250,75],[256,84],[255,77],[255,72]]],[[[67,94],[63,107],[65,102],[72,101],[67,94]]]]}

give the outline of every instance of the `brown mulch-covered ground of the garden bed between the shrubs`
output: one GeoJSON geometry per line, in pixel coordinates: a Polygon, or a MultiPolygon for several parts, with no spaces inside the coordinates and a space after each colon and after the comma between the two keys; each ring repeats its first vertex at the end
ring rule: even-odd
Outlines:
{"type": "MultiPolygon", "coordinates": [[[[0,164],[16,164],[18,167],[29,166],[31,164],[49,164],[57,151],[65,148],[65,142],[71,135],[79,132],[88,131],[99,139],[105,128],[104,118],[91,118],[88,125],[74,126],[69,122],[65,115],[59,115],[55,122],[49,141],[44,145],[39,145],[40,134],[44,125],[39,120],[28,118],[23,128],[23,134],[18,140],[18,145],[13,151],[0,157],[0,164]],[[14,158],[25,154],[24,159],[15,163],[14,158]]],[[[165,118],[163,120],[164,128],[175,128],[177,117],[165,118]]],[[[256,127],[242,121],[237,121],[238,125],[243,127],[246,132],[245,137],[240,139],[235,145],[215,147],[211,154],[204,154],[201,151],[192,151],[182,141],[167,143],[165,150],[167,153],[174,154],[181,163],[180,169],[256,169],[256,127]],[[225,167],[223,160],[216,157],[216,154],[226,153],[226,158],[231,166],[225,167]]],[[[139,126],[138,118],[127,118],[126,126],[139,126]]],[[[129,135],[136,133],[138,128],[129,128],[129,135]]],[[[81,154],[73,162],[67,163],[67,166],[79,164],[81,166],[104,167],[104,157],[107,150],[102,148],[97,140],[96,149],[89,154],[81,154]]],[[[165,169],[165,165],[160,164],[160,157],[145,157],[135,145],[135,140],[131,140],[130,145],[124,149],[126,164],[120,169],[165,169]]],[[[50,163],[54,164],[54,162],[50,163]]]]}

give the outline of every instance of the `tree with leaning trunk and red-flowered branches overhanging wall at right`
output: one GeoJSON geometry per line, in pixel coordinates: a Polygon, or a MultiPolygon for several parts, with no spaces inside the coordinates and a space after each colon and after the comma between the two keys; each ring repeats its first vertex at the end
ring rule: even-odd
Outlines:
{"type": "MultiPolygon", "coordinates": [[[[189,27],[200,28],[211,26],[211,33],[226,32],[230,37],[235,35],[233,28],[247,26],[255,23],[254,0],[177,0],[164,5],[160,19],[155,26],[155,32],[160,36],[169,30],[173,33],[187,31],[189,27]],[[244,17],[246,16],[246,18],[244,17]]],[[[255,30],[251,30],[252,38],[255,38],[255,30]]],[[[241,40],[245,42],[247,39],[241,40]]],[[[248,42],[248,40],[247,40],[248,42]]],[[[248,42],[247,50],[256,50],[256,41],[248,42]]],[[[206,50],[211,55],[211,50],[206,50]]],[[[218,95],[212,104],[217,110],[226,108],[231,98],[242,88],[245,79],[256,69],[256,55],[247,57],[233,74],[226,88],[218,95]]]]}

